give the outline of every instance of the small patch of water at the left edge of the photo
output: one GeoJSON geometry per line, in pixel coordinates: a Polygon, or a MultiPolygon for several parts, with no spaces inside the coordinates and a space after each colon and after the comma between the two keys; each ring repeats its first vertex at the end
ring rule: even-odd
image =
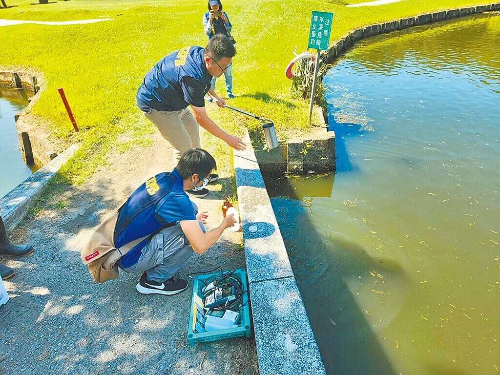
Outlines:
{"type": "Polygon", "coordinates": [[[14,121],[27,103],[24,90],[0,89],[0,197],[32,173],[22,161],[14,121]]]}

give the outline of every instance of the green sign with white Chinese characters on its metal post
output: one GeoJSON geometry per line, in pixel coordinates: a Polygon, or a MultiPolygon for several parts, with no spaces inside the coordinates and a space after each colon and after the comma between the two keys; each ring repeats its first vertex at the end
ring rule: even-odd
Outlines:
{"type": "Polygon", "coordinates": [[[324,11],[313,11],[311,14],[311,26],[309,30],[308,48],[317,50],[314,61],[314,75],[312,77],[311,100],[309,105],[309,124],[311,122],[312,106],[314,104],[314,92],[316,90],[317,70],[319,66],[319,53],[328,49],[330,41],[331,20],[333,13],[324,11]]]}

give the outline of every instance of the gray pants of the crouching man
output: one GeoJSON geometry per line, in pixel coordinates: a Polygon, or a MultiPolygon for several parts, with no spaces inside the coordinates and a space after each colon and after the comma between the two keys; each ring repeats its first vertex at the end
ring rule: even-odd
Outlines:
{"type": "MultiPolygon", "coordinates": [[[[195,214],[198,207],[192,202],[195,214]]],[[[205,227],[199,222],[201,230],[205,227]]],[[[146,272],[148,280],[165,281],[172,277],[192,255],[193,250],[180,225],[161,229],[153,235],[150,241],[140,250],[137,263],[122,268],[125,272],[146,272]]]]}

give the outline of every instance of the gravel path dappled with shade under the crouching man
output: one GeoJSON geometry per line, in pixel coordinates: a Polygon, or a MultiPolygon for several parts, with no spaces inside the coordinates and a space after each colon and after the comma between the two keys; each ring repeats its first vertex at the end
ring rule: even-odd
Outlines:
{"type": "MultiPolygon", "coordinates": [[[[88,181],[53,194],[13,231],[15,241],[35,250],[0,259],[16,269],[5,281],[11,299],[0,307],[0,375],[258,373],[253,337],[187,344],[190,287],[174,296],[142,295],[135,290],[140,274],[120,271],[98,284],[81,264],[92,228],[148,177],[171,169],[168,143],[151,138],[151,147],[110,155],[88,181]]],[[[209,211],[208,228],[220,222],[216,192],[193,200],[209,211]]],[[[226,230],[179,276],[244,267],[240,243],[241,233],[226,230]]]]}

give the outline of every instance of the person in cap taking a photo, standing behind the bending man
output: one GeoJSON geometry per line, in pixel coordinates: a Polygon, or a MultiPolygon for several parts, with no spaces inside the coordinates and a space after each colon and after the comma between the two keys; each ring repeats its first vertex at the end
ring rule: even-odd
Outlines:
{"type": "MultiPolygon", "coordinates": [[[[229,16],[222,10],[222,3],[219,0],[208,1],[208,11],[203,15],[203,29],[205,34],[208,35],[208,39],[211,39],[216,34],[222,34],[229,37],[233,44],[235,43],[231,35],[232,25],[229,22],[229,16]]],[[[217,77],[214,76],[210,82],[212,89],[215,89],[216,79],[217,77]]],[[[227,97],[232,99],[235,95],[232,93],[231,66],[224,71],[224,79],[227,97]]],[[[208,98],[208,100],[212,101],[213,99],[208,98]]]]}

